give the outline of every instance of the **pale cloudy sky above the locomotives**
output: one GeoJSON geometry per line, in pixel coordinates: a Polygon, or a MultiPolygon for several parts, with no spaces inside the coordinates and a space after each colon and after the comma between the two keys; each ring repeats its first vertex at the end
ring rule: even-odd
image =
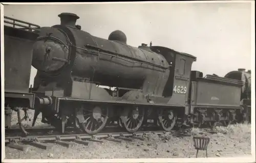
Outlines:
{"type": "MultiPolygon", "coordinates": [[[[238,68],[251,69],[250,3],[165,3],[8,5],[4,15],[40,26],[60,23],[58,14],[70,12],[93,36],[108,39],[121,30],[127,44],[141,43],[196,56],[192,70],[224,76],[238,68]]],[[[30,84],[36,69],[32,67],[30,84]]]]}

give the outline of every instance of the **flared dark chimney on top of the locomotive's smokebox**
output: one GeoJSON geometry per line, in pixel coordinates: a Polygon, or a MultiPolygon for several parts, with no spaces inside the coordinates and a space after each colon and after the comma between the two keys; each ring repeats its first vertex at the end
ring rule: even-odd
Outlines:
{"type": "Polygon", "coordinates": [[[79,19],[79,16],[76,14],[61,13],[58,17],[60,17],[60,25],[67,25],[72,28],[76,28],[76,20],[79,19]]]}

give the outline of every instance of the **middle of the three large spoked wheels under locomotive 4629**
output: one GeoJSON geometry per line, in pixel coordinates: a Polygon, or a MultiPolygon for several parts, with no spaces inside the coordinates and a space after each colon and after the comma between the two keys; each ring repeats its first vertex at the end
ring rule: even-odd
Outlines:
{"type": "Polygon", "coordinates": [[[144,118],[144,109],[143,108],[124,108],[121,120],[123,122],[124,128],[128,132],[136,132],[142,125],[144,118]]]}

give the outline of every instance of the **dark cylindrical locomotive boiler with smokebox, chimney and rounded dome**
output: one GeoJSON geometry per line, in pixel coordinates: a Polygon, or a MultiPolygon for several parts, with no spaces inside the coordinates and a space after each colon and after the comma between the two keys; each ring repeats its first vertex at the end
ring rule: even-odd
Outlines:
{"type": "Polygon", "coordinates": [[[40,29],[33,47],[32,65],[47,74],[45,85],[55,76],[70,73],[80,81],[162,95],[160,86],[166,84],[169,63],[161,54],[145,44],[139,48],[127,45],[121,31],[112,32],[106,40],[78,29],[75,23],[79,17],[74,14],[62,13],[59,17],[60,25],[40,29]],[[157,78],[161,80],[152,82],[157,78]]]}

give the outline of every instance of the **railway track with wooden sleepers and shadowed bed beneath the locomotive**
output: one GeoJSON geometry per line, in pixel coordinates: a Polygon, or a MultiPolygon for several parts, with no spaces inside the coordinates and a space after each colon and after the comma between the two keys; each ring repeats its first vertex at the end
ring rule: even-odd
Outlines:
{"type": "MultiPolygon", "coordinates": [[[[204,127],[204,130],[210,133],[212,128],[204,127]]],[[[164,130],[159,130],[159,127],[155,126],[142,126],[137,132],[127,132],[124,128],[118,125],[106,126],[101,133],[90,135],[88,133],[81,132],[80,130],[74,130],[73,127],[66,128],[65,133],[60,133],[54,127],[47,128],[26,128],[28,135],[24,135],[22,130],[18,128],[6,129],[5,144],[7,147],[28,151],[29,146],[34,146],[40,149],[48,150],[52,149],[54,144],[65,146],[67,148],[77,144],[89,146],[93,142],[104,143],[105,141],[112,141],[122,143],[124,141],[133,142],[135,140],[144,141],[147,135],[150,134],[165,134],[164,130]]],[[[168,133],[176,137],[190,136],[191,128],[180,129],[174,127],[172,131],[168,133]]]]}

